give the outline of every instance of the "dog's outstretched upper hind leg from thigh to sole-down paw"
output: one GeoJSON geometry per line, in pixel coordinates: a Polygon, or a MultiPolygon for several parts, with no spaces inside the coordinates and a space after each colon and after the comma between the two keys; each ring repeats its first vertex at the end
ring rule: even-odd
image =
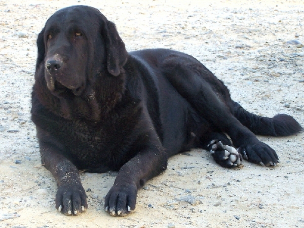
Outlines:
{"type": "Polygon", "coordinates": [[[164,60],[162,70],[174,88],[211,126],[227,133],[236,147],[241,147],[248,161],[276,165],[278,156],[233,115],[229,102],[217,87],[220,81],[196,59],[176,54],[164,60]]]}

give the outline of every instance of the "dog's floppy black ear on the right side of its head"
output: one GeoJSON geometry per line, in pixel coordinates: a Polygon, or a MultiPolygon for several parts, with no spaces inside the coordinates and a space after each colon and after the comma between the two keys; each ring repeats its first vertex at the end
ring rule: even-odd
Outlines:
{"type": "Polygon", "coordinates": [[[118,76],[120,67],[125,65],[128,58],[125,44],[117,32],[115,24],[110,21],[105,21],[102,36],[105,41],[107,69],[110,74],[118,76]]]}

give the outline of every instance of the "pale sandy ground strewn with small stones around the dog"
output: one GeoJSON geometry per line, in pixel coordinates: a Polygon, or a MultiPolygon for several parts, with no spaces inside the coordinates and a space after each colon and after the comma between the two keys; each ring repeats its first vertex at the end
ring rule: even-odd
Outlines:
{"type": "Polygon", "coordinates": [[[304,126],[304,3],[295,1],[0,0],[0,227],[304,227],[304,134],[260,137],[277,167],[224,169],[204,150],[173,157],[138,192],[127,217],[103,210],[115,173],[81,176],[89,210],[56,211],[56,182],[41,166],[30,92],[35,40],[56,10],[98,8],[129,51],[169,48],[195,56],[246,109],[287,113],[304,126]]]}

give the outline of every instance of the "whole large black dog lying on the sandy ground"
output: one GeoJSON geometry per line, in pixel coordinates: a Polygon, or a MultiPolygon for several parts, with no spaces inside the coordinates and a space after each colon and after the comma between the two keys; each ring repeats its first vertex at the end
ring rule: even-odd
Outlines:
{"type": "Polygon", "coordinates": [[[119,171],[105,210],[126,215],[135,209],[137,189],[164,172],[170,156],[200,147],[223,167],[239,166],[242,158],[276,165],[276,152],[254,134],[302,129],[287,115],[244,110],[192,56],[127,53],[115,25],[91,7],[56,12],[37,47],[32,121],[42,163],[59,185],[56,208],[66,215],[88,207],[79,169],[119,171]]]}

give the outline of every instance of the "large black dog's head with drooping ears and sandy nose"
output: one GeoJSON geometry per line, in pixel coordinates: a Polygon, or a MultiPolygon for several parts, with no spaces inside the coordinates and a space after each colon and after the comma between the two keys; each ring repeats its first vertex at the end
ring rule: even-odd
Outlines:
{"type": "Polygon", "coordinates": [[[128,53],[115,25],[97,9],[72,6],[53,14],[37,38],[36,77],[51,93],[80,96],[102,67],[118,76],[128,53]]]}

